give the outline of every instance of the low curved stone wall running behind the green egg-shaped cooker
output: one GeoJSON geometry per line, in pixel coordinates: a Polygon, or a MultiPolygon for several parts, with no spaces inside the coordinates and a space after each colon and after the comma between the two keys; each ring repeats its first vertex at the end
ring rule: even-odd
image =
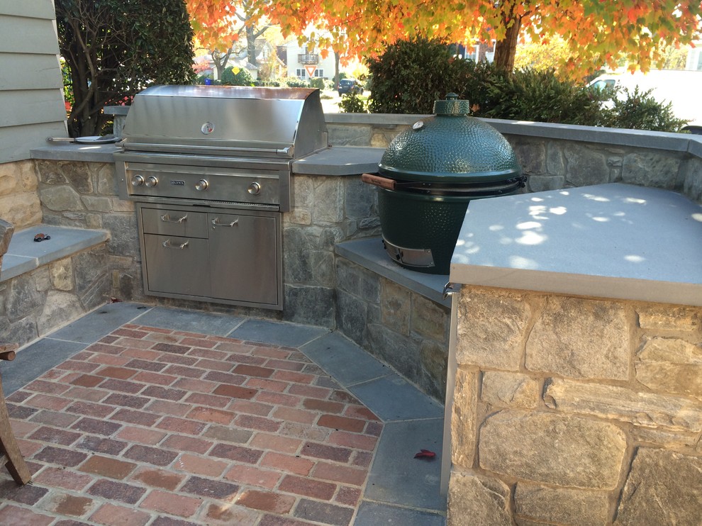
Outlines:
{"type": "MultiPolygon", "coordinates": [[[[420,115],[329,114],[336,145],[386,148],[420,115]]],[[[623,182],[685,194],[702,203],[702,138],[696,135],[615,130],[485,119],[512,145],[525,174],[525,191],[623,182]],[[690,140],[691,144],[682,144],[690,140]]]]}

